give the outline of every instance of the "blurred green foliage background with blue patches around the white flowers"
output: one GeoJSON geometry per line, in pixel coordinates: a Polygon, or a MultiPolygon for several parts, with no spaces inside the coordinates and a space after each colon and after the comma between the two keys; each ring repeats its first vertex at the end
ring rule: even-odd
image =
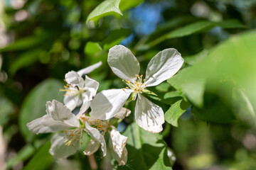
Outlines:
{"type": "MultiPolygon", "coordinates": [[[[53,160],[50,135],[33,135],[26,123],[45,114],[46,101],[63,100],[59,89],[70,70],[102,61],[89,74],[99,91],[124,87],[107,65],[118,44],[137,56],[142,73],[169,47],[185,59],[180,74],[151,89],[164,111],[181,98],[187,104],[161,133],[173,169],[256,169],[256,1],[131,0],[128,8],[122,0],[123,16],[86,22],[101,2],[0,1],[0,169],[92,168],[80,153],[53,160]]],[[[112,169],[100,155],[97,168],[112,169]]]]}

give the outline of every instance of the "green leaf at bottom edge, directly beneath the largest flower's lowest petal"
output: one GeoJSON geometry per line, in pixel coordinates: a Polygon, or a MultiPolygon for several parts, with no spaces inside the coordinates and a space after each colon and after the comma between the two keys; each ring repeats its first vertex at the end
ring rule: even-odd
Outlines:
{"type": "Polygon", "coordinates": [[[147,132],[136,123],[129,125],[123,135],[128,137],[129,166],[119,166],[117,169],[171,169],[167,146],[161,135],[147,132]]]}

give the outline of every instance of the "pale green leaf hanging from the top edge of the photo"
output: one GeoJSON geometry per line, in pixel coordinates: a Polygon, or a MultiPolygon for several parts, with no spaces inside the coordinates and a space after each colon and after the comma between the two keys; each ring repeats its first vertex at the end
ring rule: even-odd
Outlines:
{"type": "Polygon", "coordinates": [[[105,0],[102,1],[87,17],[87,21],[98,21],[104,16],[122,16],[122,12],[119,9],[119,3],[121,0],[105,0]]]}

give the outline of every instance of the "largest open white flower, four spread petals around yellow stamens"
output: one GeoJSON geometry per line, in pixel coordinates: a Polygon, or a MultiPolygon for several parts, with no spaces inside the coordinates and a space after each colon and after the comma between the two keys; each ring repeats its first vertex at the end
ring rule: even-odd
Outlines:
{"type": "Polygon", "coordinates": [[[139,75],[139,62],[127,47],[112,47],[107,62],[114,74],[123,79],[127,87],[105,90],[97,94],[90,106],[92,118],[104,120],[114,117],[131,95],[133,101],[137,98],[134,113],[137,124],[149,132],[161,132],[164,111],[142,94],[150,93],[146,87],[156,86],[178,72],[183,64],[181,54],[174,48],[157,53],[146,68],[145,78],[139,75]]]}

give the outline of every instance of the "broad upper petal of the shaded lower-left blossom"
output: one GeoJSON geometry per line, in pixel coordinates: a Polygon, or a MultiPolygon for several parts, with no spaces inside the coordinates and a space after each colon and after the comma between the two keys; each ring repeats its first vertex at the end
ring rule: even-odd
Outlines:
{"type": "Polygon", "coordinates": [[[53,118],[53,120],[60,120],[66,125],[71,125],[74,127],[79,127],[78,119],[75,115],[71,113],[67,106],[63,103],[53,100],[46,103],[46,113],[53,118]]]}

